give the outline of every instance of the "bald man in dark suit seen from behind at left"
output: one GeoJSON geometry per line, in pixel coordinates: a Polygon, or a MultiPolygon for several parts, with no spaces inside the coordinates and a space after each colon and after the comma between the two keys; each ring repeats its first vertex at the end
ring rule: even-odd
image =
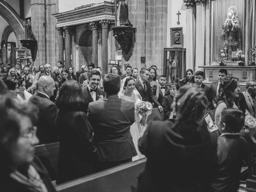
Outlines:
{"type": "Polygon", "coordinates": [[[58,141],[57,131],[55,130],[58,108],[50,100],[54,90],[54,80],[50,76],[41,76],[38,80],[38,92],[28,100],[28,102],[38,106],[39,109],[37,136],[40,144],[58,141]]]}

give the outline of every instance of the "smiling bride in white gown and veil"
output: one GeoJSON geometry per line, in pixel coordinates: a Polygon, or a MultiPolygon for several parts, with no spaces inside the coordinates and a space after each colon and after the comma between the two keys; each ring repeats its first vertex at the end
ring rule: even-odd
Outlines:
{"type": "MultiPolygon", "coordinates": [[[[132,77],[126,77],[122,80],[121,88],[118,96],[122,99],[128,100],[130,102],[133,102],[134,104],[138,99],[142,100],[138,90],[135,88],[135,82],[132,77]]],[[[141,117],[137,110],[135,110],[135,122],[130,126],[130,132],[132,135],[132,140],[134,143],[134,146],[136,148],[136,151],[138,153],[137,156],[134,156],[132,158],[132,161],[144,158],[145,156],[142,155],[138,150],[138,140],[143,135],[143,128],[140,124],[141,117]]]]}

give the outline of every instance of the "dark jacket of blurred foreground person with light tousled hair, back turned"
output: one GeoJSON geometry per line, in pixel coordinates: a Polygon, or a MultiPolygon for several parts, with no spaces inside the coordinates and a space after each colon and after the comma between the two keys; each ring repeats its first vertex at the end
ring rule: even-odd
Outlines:
{"type": "Polygon", "coordinates": [[[184,119],[150,122],[138,142],[147,162],[137,192],[206,192],[213,143],[205,125],[184,119]]]}

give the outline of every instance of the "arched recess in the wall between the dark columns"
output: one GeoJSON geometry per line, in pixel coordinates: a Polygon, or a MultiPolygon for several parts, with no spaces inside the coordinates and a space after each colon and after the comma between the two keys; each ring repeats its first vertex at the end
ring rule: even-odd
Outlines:
{"type": "Polygon", "coordinates": [[[78,36],[78,46],[76,46],[76,63],[79,68],[92,62],[92,31],[84,30],[78,36]]]}

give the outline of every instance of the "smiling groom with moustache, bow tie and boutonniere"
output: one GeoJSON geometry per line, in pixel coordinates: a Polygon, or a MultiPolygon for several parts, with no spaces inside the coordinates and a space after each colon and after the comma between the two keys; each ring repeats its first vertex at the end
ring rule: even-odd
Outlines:
{"type": "Polygon", "coordinates": [[[102,89],[98,88],[100,84],[100,72],[98,70],[92,70],[88,74],[89,83],[83,87],[83,98],[86,103],[85,111],[88,110],[90,102],[105,98],[105,93],[102,89]]]}

